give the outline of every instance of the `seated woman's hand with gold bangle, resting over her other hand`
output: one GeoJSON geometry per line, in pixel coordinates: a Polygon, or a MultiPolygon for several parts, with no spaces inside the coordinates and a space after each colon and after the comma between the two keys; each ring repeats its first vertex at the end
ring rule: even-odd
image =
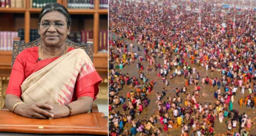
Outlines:
{"type": "Polygon", "coordinates": [[[45,103],[27,103],[17,105],[14,112],[28,118],[48,119],[54,118],[54,114],[48,112],[52,109],[54,107],[45,103]]]}

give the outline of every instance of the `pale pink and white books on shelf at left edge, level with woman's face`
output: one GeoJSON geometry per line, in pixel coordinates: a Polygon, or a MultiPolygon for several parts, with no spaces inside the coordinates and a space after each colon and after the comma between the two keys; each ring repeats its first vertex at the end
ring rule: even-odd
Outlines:
{"type": "Polygon", "coordinates": [[[18,37],[18,32],[0,31],[0,50],[12,51],[14,37],[18,37]]]}

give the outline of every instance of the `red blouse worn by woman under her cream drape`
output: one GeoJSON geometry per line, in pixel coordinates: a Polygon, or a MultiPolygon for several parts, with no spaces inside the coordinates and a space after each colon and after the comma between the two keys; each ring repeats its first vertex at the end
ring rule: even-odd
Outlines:
{"type": "MultiPolygon", "coordinates": [[[[69,47],[68,52],[74,50],[74,48],[69,47]]],[[[50,64],[54,60],[58,59],[59,57],[55,57],[52,59],[45,59],[45,60],[38,60],[38,47],[28,48],[24,51],[20,52],[17,55],[17,58],[14,62],[12,72],[9,79],[9,84],[6,90],[6,94],[13,94],[18,97],[21,97],[21,85],[25,81],[25,79],[31,75],[32,73],[42,69],[46,65],[50,64]]],[[[82,78],[81,78],[82,79],[82,78]]],[[[80,80],[81,80],[80,79],[80,80]]],[[[100,78],[101,80],[101,78],[100,78]]],[[[101,82],[101,81],[100,81],[101,82]]],[[[81,90],[80,92],[76,91],[77,82],[75,85],[73,97],[70,102],[77,100],[82,96],[90,96],[95,100],[99,88],[98,85],[100,82],[97,82],[93,85],[88,86],[87,88],[81,90]]],[[[81,84],[81,83],[79,83],[81,84]]]]}

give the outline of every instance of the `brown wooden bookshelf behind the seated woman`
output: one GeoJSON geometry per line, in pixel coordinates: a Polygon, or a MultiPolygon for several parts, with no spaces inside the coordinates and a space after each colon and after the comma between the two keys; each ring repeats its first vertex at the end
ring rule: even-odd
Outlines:
{"type": "MultiPolygon", "coordinates": [[[[30,7],[30,0],[24,1],[26,2],[24,8],[0,8],[0,31],[18,31],[18,29],[24,29],[24,40],[27,43],[30,41],[30,29],[38,29],[38,17],[42,8],[32,8],[30,7]]],[[[57,2],[67,8],[67,0],[57,0],[57,2]]],[[[80,31],[83,29],[93,31],[93,64],[103,79],[104,85],[101,88],[108,90],[108,53],[98,53],[99,30],[108,30],[108,9],[99,9],[99,0],[94,0],[94,9],[68,9],[68,11],[71,17],[75,17],[74,20],[72,19],[71,31],[80,31]],[[84,18],[84,16],[88,18],[84,18]]],[[[12,51],[0,51],[0,58],[1,110],[11,73],[12,51]]],[[[104,93],[99,93],[98,95],[100,99],[107,98],[104,93]]]]}

